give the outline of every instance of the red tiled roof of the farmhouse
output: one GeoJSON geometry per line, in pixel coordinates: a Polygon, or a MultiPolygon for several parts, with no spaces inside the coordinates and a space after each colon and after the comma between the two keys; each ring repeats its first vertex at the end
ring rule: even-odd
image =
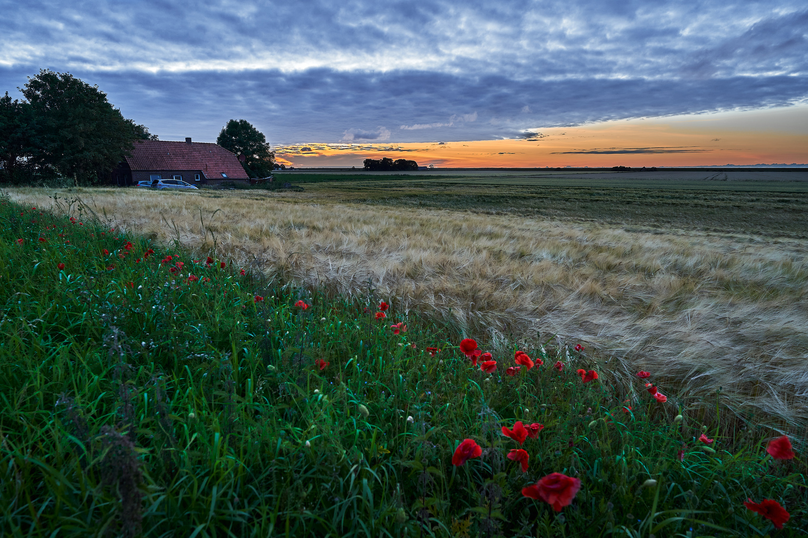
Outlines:
{"type": "Polygon", "coordinates": [[[238,158],[218,144],[136,140],[132,156],[126,157],[133,170],[200,170],[208,179],[248,179],[238,158]]]}

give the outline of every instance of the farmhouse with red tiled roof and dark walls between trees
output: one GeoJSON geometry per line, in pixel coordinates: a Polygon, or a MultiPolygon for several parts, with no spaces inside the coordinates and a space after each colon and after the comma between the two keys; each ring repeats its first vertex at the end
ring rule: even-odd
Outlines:
{"type": "Polygon", "coordinates": [[[191,185],[249,182],[250,177],[233,153],[208,142],[136,140],[132,154],[112,172],[112,184],[179,179],[191,185]]]}

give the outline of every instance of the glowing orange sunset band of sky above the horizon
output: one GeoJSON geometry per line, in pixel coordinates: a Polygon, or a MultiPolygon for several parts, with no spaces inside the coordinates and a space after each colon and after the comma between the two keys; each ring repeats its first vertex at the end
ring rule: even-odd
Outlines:
{"type": "Polygon", "coordinates": [[[708,166],[808,162],[808,106],[537,128],[523,139],[276,147],[296,167],[406,158],[440,168],[708,166]]]}

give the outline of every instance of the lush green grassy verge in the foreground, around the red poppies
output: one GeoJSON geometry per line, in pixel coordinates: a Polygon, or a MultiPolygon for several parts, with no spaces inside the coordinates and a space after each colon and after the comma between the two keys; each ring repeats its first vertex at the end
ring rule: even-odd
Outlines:
{"type": "Polygon", "coordinates": [[[639,380],[584,385],[576,369],[609,367],[585,351],[528,341],[545,365],[508,377],[512,353],[494,357],[486,381],[459,335],[372,286],[242,276],[7,198],[0,219],[2,536],[806,536],[800,446],[772,461],[761,424],[678,423],[639,380]],[[527,473],[499,432],[516,420],[545,425],[527,473]],[[455,467],[465,438],[483,455],[455,467]],[[520,494],[553,472],[582,482],[558,513],[520,494]],[[791,519],[774,531],[747,498],[791,519]]]}

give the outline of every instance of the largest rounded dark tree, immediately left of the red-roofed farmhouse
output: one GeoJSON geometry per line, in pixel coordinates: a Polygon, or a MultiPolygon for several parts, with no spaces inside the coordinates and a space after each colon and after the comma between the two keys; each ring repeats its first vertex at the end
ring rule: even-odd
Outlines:
{"type": "Polygon", "coordinates": [[[123,160],[133,140],[148,136],[97,85],[70,73],[42,69],[20,91],[37,119],[39,151],[33,159],[62,176],[98,180],[123,160]]]}

